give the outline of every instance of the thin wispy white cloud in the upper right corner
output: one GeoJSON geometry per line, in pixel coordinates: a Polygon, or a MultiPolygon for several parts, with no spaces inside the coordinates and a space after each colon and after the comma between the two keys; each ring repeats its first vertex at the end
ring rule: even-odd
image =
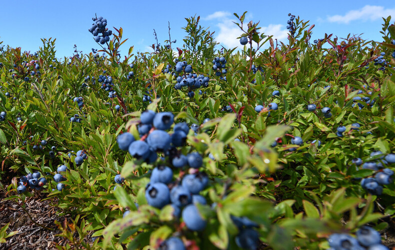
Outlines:
{"type": "Polygon", "coordinates": [[[384,8],[383,6],[365,5],[360,9],[348,11],[345,15],[328,16],[329,22],[349,23],[354,20],[376,20],[388,15],[395,15],[395,8],[384,8]]]}

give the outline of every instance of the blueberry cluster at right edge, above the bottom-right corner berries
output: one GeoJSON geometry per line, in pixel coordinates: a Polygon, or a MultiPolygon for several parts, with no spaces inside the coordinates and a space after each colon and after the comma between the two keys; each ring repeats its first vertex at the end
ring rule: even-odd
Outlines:
{"type": "Polygon", "coordinates": [[[370,153],[370,157],[378,156],[378,161],[367,161],[363,162],[361,158],[352,159],[352,163],[356,166],[362,165],[363,169],[371,169],[376,171],[374,177],[363,178],[360,181],[360,185],[366,189],[371,194],[381,195],[382,194],[382,185],[387,185],[392,183],[392,175],[393,171],[389,168],[384,168],[384,165],[389,163],[395,163],[395,154],[388,153],[387,155],[383,155],[381,151],[373,151],[370,153]]]}

